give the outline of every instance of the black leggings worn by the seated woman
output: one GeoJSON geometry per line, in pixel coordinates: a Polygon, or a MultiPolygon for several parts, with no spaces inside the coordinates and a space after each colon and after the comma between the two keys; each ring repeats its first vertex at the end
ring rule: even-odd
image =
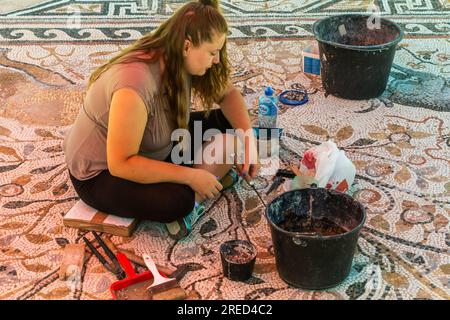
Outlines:
{"type": "MultiPolygon", "coordinates": [[[[194,121],[202,121],[202,135],[208,129],[215,128],[225,133],[226,129],[232,128],[220,109],[212,110],[209,117],[205,117],[204,111],[192,112],[189,121],[192,137],[194,121]]],[[[165,161],[170,162],[170,155],[165,161]]],[[[108,170],[83,181],[77,180],[70,172],[69,175],[78,196],[105,213],[168,223],[186,216],[194,207],[194,190],[186,185],[141,184],[114,177],[108,170]]]]}

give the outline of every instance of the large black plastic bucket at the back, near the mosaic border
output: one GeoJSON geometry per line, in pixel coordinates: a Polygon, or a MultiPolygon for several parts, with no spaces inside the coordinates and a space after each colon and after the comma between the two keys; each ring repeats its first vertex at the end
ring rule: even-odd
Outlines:
{"type": "Polygon", "coordinates": [[[319,42],[323,87],[344,99],[379,97],[386,89],[397,44],[397,24],[370,15],[338,15],[313,25],[319,42]],[[379,25],[374,25],[379,19],[379,25]],[[378,28],[379,27],[379,28],[378,28]]]}

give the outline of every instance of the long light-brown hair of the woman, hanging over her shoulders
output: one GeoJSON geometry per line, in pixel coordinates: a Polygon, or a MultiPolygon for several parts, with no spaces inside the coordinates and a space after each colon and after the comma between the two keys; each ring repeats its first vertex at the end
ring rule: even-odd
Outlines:
{"type": "MultiPolygon", "coordinates": [[[[212,42],[214,34],[228,34],[228,25],[219,9],[218,0],[189,2],[179,8],[158,29],[137,40],[132,46],[122,50],[117,56],[95,70],[89,78],[89,86],[111,66],[119,63],[155,63],[164,55],[165,70],[162,86],[167,90],[173,111],[173,121],[179,128],[186,128],[189,103],[186,97],[186,79],[183,47],[186,39],[195,47],[203,42],[212,42]],[[130,53],[154,53],[149,58],[130,53]]],[[[210,110],[226,88],[230,76],[226,41],[220,50],[220,63],[213,66],[203,76],[192,76],[192,89],[200,97],[203,107],[210,110]]]]}

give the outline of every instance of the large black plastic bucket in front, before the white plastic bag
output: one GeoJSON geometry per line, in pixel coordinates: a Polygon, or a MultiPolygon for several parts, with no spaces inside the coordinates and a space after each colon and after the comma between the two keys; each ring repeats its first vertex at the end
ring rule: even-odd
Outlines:
{"type": "Polygon", "coordinates": [[[364,207],[351,196],[323,188],[289,191],[267,206],[266,218],[277,271],[285,282],[320,290],[333,287],[348,276],[366,219],[364,207]],[[321,235],[286,230],[287,221],[304,220],[310,213],[316,223],[326,219],[345,231],[321,235]]]}

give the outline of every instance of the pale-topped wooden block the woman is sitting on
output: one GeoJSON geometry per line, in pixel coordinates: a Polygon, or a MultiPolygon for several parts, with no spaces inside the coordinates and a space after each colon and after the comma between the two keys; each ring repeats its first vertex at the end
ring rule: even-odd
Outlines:
{"type": "Polygon", "coordinates": [[[98,211],[79,200],[64,216],[63,224],[72,228],[129,237],[136,229],[138,220],[98,211]]]}

